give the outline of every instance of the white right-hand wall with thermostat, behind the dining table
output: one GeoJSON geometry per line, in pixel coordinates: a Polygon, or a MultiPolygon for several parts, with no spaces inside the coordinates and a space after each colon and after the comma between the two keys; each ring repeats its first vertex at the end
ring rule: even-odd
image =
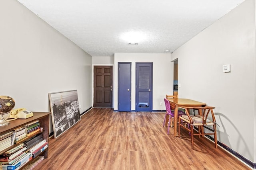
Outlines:
{"type": "Polygon", "coordinates": [[[180,98],[215,106],[218,141],[255,160],[255,0],[246,0],[172,54],[180,98]],[[222,65],[231,64],[230,73],[222,65]]]}

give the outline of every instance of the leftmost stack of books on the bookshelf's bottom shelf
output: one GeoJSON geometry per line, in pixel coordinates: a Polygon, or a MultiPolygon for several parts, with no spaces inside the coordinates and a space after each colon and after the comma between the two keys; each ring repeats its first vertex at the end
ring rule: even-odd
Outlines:
{"type": "Polygon", "coordinates": [[[0,164],[3,170],[18,170],[22,165],[32,159],[32,154],[26,152],[23,143],[7,150],[0,155],[0,164]]]}

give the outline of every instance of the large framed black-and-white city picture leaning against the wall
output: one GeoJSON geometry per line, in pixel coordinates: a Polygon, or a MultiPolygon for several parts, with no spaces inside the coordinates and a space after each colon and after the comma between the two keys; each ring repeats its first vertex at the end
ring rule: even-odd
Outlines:
{"type": "Polygon", "coordinates": [[[80,119],[77,90],[49,93],[54,138],[76,124],[80,119]]]}

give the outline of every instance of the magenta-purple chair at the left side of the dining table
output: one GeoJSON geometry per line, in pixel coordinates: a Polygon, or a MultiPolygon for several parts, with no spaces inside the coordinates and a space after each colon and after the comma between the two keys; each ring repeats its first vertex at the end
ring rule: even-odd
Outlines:
{"type": "MultiPolygon", "coordinates": [[[[166,121],[166,115],[169,115],[169,121],[168,121],[168,131],[167,131],[167,134],[169,135],[169,127],[170,127],[170,123],[171,123],[171,127],[173,126],[172,125],[172,118],[174,117],[174,109],[176,107],[176,104],[173,104],[173,103],[170,103],[167,99],[164,98],[164,104],[165,104],[165,107],[166,107],[166,114],[165,114],[165,117],[164,117],[164,123],[166,121]]],[[[185,115],[184,111],[181,111],[181,110],[178,110],[178,117],[180,115],[185,115]]],[[[164,127],[164,124],[163,124],[163,127],[164,127]]]]}

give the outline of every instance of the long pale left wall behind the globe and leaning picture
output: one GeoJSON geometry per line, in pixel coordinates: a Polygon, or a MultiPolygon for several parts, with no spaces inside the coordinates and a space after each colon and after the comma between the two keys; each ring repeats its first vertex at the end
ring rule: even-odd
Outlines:
{"type": "Polygon", "coordinates": [[[0,1],[0,95],[15,108],[50,111],[48,93],[78,90],[92,106],[92,57],[16,0],[0,1]]]}

